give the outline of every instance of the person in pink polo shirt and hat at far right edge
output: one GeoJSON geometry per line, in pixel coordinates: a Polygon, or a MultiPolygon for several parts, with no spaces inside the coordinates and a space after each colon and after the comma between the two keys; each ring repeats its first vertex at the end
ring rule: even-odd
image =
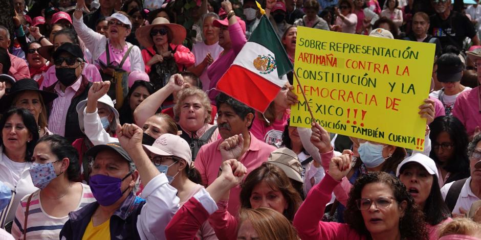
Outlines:
{"type": "MultiPolygon", "coordinates": [[[[477,81],[481,84],[481,49],[466,52],[477,67],[477,81]]],[[[460,119],[470,139],[481,127],[481,87],[461,92],[454,103],[453,116],[460,119]]]]}

